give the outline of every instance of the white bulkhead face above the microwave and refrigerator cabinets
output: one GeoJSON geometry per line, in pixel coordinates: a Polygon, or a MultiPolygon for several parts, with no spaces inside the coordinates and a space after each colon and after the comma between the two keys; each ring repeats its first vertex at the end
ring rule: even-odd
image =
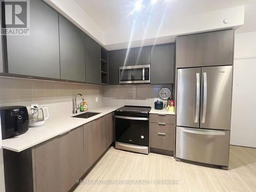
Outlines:
{"type": "Polygon", "coordinates": [[[174,42],[178,35],[236,28],[244,24],[244,6],[176,17],[169,13],[159,13],[158,17],[152,19],[154,21],[150,20],[146,30],[140,20],[135,20],[134,27],[133,22],[128,20],[125,25],[106,29],[105,47],[109,50],[127,48],[130,41],[131,47],[137,47],[141,46],[142,39],[143,46],[153,45],[156,40],[156,44],[161,44],[163,41],[174,42]],[[228,24],[224,24],[225,18],[228,19],[228,24]]]}

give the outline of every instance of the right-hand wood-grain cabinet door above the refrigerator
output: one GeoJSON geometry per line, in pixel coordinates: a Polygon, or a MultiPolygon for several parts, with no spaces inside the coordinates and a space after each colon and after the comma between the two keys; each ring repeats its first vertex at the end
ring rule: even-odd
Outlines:
{"type": "Polygon", "coordinates": [[[233,30],[204,33],[203,66],[233,64],[233,30]]]}

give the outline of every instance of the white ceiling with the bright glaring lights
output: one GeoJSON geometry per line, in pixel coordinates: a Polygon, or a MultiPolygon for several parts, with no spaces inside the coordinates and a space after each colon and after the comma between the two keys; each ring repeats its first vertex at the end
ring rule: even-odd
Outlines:
{"type": "MultiPolygon", "coordinates": [[[[152,31],[160,29],[160,23],[171,27],[176,22],[175,25],[177,26],[177,18],[185,18],[189,15],[192,16],[240,5],[245,5],[245,25],[240,27],[237,32],[256,31],[256,22],[254,22],[256,18],[256,0],[157,0],[154,5],[151,4],[151,0],[75,0],[75,2],[102,29],[105,34],[106,45],[118,44],[122,40],[123,42],[129,42],[142,39],[134,38],[129,40],[134,20],[136,20],[137,25],[137,29],[134,30],[136,33],[140,33],[140,31],[143,33],[144,29],[144,31],[151,31],[152,34],[152,31]],[[142,9],[132,14],[134,5],[138,1],[142,1],[142,9]],[[124,33],[126,33],[126,36],[119,36],[124,33]],[[115,42],[113,36],[114,38],[119,36],[119,39],[116,38],[115,42]],[[108,43],[109,39],[110,43],[108,43]]],[[[168,30],[170,30],[170,27],[168,30]]],[[[167,28],[165,27],[165,29],[162,28],[161,30],[167,30],[167,28]]],[[[173,33],[175,32],[174,30],[173,33]]],[[[154,35],[156,36],[151,35],[150,37],[145,37],[145,39],[158,38],[157,34],[158,32],[155,32],[154,35]]],[[[136,36],[136,34],[133,36],[136,36]]],[[[165,39],[161,43],[170,41],[168,38],[165,39]]]]}

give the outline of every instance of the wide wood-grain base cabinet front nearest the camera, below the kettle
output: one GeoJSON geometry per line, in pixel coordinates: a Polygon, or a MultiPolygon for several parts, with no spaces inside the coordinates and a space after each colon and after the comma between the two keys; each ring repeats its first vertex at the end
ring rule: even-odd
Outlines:
{"type": "Polygon", "coordinates": [[[36,191],[68,191],[84,173],[82,127],[34,148],[36,191]]]}

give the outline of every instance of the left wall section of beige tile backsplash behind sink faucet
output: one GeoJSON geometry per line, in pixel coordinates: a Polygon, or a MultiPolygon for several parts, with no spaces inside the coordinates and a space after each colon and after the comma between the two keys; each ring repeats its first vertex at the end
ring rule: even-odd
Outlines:
{"type": "MultiPolygon", "coordinates": [[[[30,112],[30,104],[38,103],[47,106],[49,113],[59,114],[72,112],[73,98],[81,93],[87,101],[89,109],[103,104],[102,86],[0,77],[0,106],[24,105],[30,112]],[[98,97],[98,102],[95,98],[98,97]]],[[[77,103],[81,102],[77,98],[77,103]]]]}

